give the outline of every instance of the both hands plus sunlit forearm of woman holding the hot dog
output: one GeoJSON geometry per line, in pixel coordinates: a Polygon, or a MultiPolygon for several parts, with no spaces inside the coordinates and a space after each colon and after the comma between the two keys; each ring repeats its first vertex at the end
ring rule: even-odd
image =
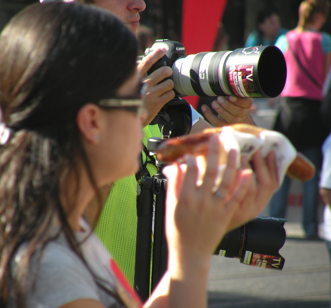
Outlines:
{"type": "Polygon", "coordinates": [[[237,167],[235,150],[228,154],[222,181],[215,189],[220,141],[213,136],[207,169],[197,186],[197,161],[172,164],[163,172],[168,178],[166,237],[168,269],[145,307],[205,308],[212,254],[223,236],[244,224],[267,204],[277,188],[273,154],[253,156],[253,174],[247,159],[237,167]],[[215,192],[216,190],[216,192],[215,192]]]}

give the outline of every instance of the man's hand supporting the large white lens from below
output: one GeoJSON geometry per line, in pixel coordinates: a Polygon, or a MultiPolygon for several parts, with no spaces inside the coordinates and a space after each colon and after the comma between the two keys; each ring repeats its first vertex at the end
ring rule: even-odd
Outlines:
{"type": "Polygon", "coordinates": [[[234,95],[218,96],[212,103],[218,113],[216,117],[207,105],[202,105],[201,110],[206,119],[215,127],[234,123],[247,123],[255,125],[250,115],[253,104],[252,98],[239,98],[234,95]]]}

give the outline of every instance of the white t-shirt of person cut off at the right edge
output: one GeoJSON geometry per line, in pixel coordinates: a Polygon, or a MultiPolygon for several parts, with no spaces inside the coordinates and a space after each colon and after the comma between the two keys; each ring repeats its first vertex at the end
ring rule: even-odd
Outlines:
{"type": "MultiPolygon", "coordinates": [[[[319,187],[331,189],[331,134],[325,139],[322,146],[323,164],[319,187]]],[[[331,204],[326,205],[323,214],[323,238],[331,241],[331,204]]]]}

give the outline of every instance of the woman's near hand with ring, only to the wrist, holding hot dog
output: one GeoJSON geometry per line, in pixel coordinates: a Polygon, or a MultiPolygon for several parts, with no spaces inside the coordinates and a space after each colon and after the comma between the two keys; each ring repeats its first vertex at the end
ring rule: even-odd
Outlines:
{"type": "MultiPolygon", "coordinates": [[[[197,187],[197,164],[192,156],[185,165],[173,164],[166,198],[166,236],[169,256],[185,262],[187,258],[209,260],[216,245],[227,232],[234,213],[238,210],[252,182],[252,170],[239,170],[237,153],[231,150],[224,175],[216,193],[213,186],[217,175],[219,138],[210,143],[208,165],[201,186],[197,187]],[[184,166],[187,169],[184,170],[184,166]]],[[[171,258],[171,257],[170,257],[171,258]]]]}

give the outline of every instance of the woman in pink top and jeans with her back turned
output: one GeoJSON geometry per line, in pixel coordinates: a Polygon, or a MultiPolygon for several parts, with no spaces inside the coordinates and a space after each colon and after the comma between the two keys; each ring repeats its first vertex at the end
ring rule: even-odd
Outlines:
{"type": "MultiPolygon", "coordinates": [[[[299,6],[298,26],[281,35],[276,46],[284,54],[287,78],[274,129],[316,166],[314,177],[303,183],[303,228],[307,239],[318,236],[318,182],[321,147],[328,135],[320,114],[322,86],[331,63],[331,36],[320,31],[330,10],[327,0],[305,0],[299,6]]],[[[270,202],[270,216],[285,218],[291,179],[285,177],[270,202]]]]}

